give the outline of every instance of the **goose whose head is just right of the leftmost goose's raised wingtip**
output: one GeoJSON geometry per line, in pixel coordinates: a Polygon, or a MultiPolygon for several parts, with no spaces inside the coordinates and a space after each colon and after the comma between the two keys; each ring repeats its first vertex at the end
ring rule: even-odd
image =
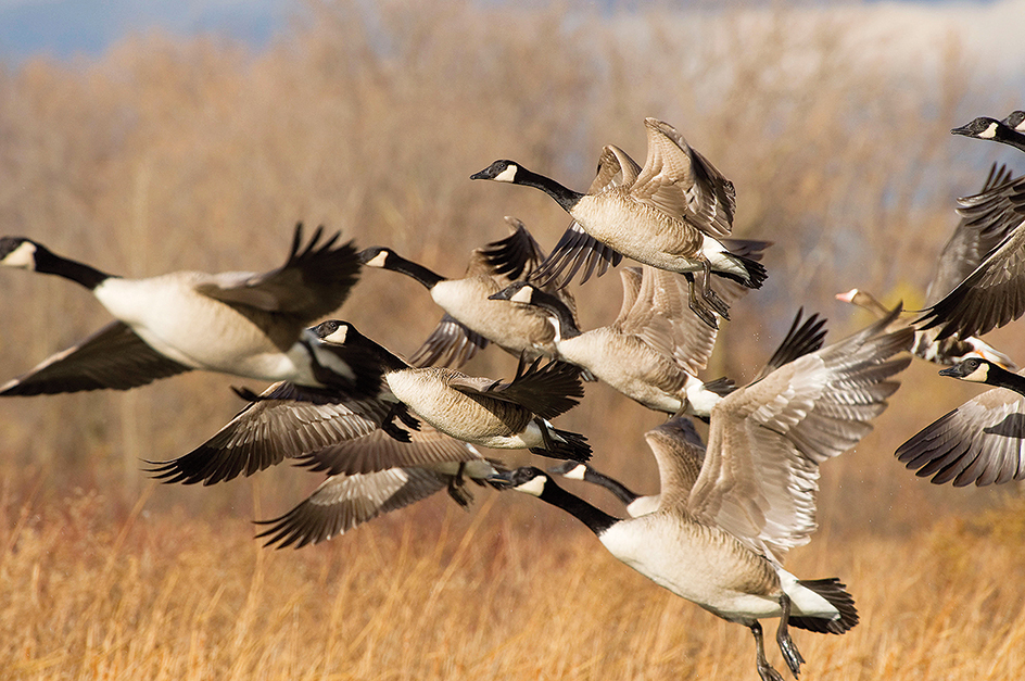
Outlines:
{"type": "MultiPolygon", "coordinates": [[[[445,311],[438,327],[409,358],[410,364],[429,366],[443,360],[443,366],[459,367],[489,341],[517,357],[555,357],[553,331],[543,314],[488,300],[510,281],[527,278],[544,260],[541,247],[523,223],[515,217],[505,219],[512,235],[476,249],[461,279],[446,279],[384,247],[359,253],[360,262],[368,267],[400,272],[422,283],[445,311]]],[[[566,291],[559,295],[571,310],[575,308],[572,294],[566,291]]]]}

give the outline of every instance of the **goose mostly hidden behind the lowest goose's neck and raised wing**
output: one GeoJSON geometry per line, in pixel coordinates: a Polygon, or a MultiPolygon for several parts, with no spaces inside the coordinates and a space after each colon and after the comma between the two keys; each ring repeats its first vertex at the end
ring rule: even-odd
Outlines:
{"type": "MultiPolygon", "coordinates": [[[[683,457],[681,464],[684,466],[687,465],[687,462],[693,464],[689,471],[689,482],[685,487],[694,483],[700,471],[701,459],[689,455],[688,452],[694,452],[694,450],[688,447],[691,447],[691,444],[698,445],[701,451],[705,447],[700,436],[694,429],[694,421],[683,416],[672,418],[644,433],[644,439],[653,452],[660,449],[667,450],[656,454],[656,458],[659,458],[659,456],[678,456],[674,450],[681,449],[682,453],[679,454],[683,457]]],[[[548,468],[548,472],[560,475],[570,480],[582,480],[604,487],[623,503],[623,506],[627,507],[627,515],[631,518],[655,513],[661,502],[661,494],[637,494],[616,478],[599,472],[594,466],[583,462],[564,462],[558,466],[548,468]]]]}

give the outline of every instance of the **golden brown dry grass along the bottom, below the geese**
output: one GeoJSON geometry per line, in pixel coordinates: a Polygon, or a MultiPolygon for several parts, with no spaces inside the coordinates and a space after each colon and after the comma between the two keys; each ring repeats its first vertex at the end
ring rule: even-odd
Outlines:
{"type": "MultiPolygon", "coordinates": [[[[746,629],[514,493],[482,494],[470,514],[438,497],[273,551],[238,516],[147,513],[151,492],[112,513],[96,492],[7,490],[5,679],[756,678],[746,629]]],[[[1017,678],[1023,512],[1011,500],[910,541],[865,529],[797,552],[790,569],[840,576],[862,616],[843,636],[795,634],[807,678],[1017,678]]]]}

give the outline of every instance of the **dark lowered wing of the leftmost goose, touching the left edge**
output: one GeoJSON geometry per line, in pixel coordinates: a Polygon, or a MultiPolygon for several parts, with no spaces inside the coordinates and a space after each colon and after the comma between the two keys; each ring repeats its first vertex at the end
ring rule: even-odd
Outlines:
{"type": "Polygon", "coordinates": [[[128,390],[191,369],[150,348],[128,325],[113,321],[8,381],[0,387],[0,395],[128,390]]]}

